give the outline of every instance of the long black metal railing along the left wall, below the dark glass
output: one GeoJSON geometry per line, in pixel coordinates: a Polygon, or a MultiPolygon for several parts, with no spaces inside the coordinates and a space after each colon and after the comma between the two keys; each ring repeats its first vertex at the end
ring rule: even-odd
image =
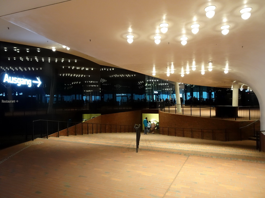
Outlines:
{"type": "Polygon", "coordinates": [[[125,133],[133,132],[133,126],[129,125],[114,125],[114,124],[97,124],[89,122],[65,122],[54,120],[34,120],[32,129],[32,140],[35,138],[43,138],[54,133],[57,137],[61,134],[83,135],[94,133],[125,133]],[[36,133],[38,131],[38,133],[36,133]]]}

